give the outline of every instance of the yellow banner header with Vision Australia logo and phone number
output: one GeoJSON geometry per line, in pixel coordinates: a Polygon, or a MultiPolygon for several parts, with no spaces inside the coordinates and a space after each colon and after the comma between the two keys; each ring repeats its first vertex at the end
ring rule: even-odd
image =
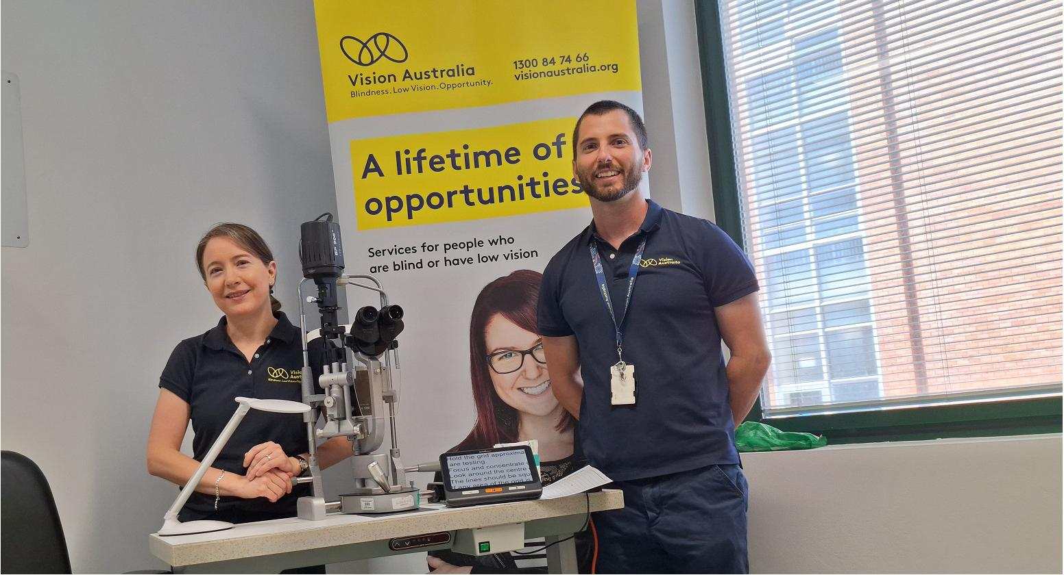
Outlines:
{"type": "Polygon", "coordinates": [[[315,0],[329,122],[641,89],[634,2],[315,0]],[[600,34],[603,16],[617,38],[600,34]],[[588,34],[595,31],[595,34],[588,34]]]}

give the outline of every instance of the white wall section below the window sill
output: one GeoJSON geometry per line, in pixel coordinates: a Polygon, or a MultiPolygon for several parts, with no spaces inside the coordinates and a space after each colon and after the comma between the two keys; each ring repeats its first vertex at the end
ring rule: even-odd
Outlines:
{"type": "Polygon", "coordinates": [[[745,454],[754,573],[1060,573],[1061,436],[745,454]]]}

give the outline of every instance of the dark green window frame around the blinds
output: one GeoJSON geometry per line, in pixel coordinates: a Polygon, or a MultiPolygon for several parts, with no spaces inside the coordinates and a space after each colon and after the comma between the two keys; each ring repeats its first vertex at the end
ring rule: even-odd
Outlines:
{"type": "MultiPolygon", "coordinates": [[[[716,224],[745,250],[717,1],[695,0],[695,19],[716,224]]],[[[831,443],[865,443],[1059,434],[1064,421],[1062,411],[1062,398],[1057,393],[1051,396],[766,419],[762,415],[759,396],[747,421],[759,421],[787,432],[822,434],[831,443]]]]}

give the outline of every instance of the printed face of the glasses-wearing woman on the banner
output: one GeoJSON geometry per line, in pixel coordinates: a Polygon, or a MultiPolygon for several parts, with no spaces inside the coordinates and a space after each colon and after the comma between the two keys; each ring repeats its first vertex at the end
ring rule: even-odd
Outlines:
{"type": "MultiPolygon", "coordinates": [[[[539,336],[518,327],[514,322],[496,314],[484,328],[484,342],[488,354],[512,350],[522,352],[541,343],[539,336]]],[[[558,399],[550,390],[547,366],[531,354],[525,354],[520,369],[511,373],[496,373],[491,367],[495,392],[506,405],[531,416],[547,416],[558,407],[558,399]]]]}

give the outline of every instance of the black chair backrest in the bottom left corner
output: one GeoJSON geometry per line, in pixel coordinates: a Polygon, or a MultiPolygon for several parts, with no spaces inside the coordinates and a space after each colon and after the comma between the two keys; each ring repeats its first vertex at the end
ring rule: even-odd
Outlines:
{"type": "Polygon", "coordinates": [[[48,479],[29,457],[4,451],[0,477],[0,572],[70,573],[70,555],[48,479]]]}

